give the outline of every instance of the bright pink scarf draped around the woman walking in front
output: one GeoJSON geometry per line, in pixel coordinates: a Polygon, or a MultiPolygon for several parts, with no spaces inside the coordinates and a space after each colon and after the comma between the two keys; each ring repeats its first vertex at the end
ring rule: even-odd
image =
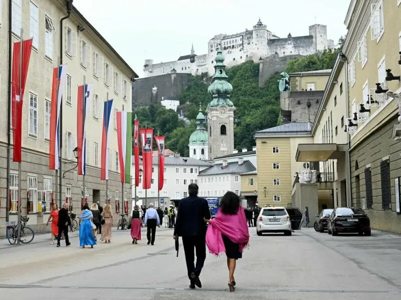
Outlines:
{"type": "Polygon", "coordinates": [[[212,254],[219,255],[226,251],[222,234],[226,235],[234,243],[240,244],[241,252],[248,245],[248,224],[244,208],[241,205],[236,214],[224,214],[219,209],[216,217],[210,220],[206,232],[206,244],[212,254]]]}

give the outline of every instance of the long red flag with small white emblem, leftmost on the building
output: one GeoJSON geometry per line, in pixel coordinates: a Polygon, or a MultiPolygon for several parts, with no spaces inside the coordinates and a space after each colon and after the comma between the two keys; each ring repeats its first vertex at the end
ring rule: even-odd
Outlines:
{"type": "Polygon", "coordinates": [[[11,83],[11,108],[13,125],[13,161],[22,161],[22,110],[25,85],[28,77],[29,61],[31,59],[32,38],[24,40],[22,43],[21,61],[21,41],[14,42],[13,68],[11,83]],[[21,67],[22,66],[22,67],[21,67]]]}

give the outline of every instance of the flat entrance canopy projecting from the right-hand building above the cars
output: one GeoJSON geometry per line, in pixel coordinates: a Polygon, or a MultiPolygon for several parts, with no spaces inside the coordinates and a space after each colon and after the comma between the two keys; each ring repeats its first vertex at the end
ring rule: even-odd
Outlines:
{"type": "Polygon", "coordinates": [[[296,161],[327,161],[339,159],[347,150],[347,144],[312,143],[298,144],[296,161]]]}

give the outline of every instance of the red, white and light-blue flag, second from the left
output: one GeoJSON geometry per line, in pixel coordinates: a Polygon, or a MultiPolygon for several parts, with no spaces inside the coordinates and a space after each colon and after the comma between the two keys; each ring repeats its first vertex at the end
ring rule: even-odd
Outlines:
{"type": "Polygon", "coordinates": [[[53,68],[52,102],[50,109],[49,169],[59,169],[60,110],[63,98],[67,65],[53,68]]]}

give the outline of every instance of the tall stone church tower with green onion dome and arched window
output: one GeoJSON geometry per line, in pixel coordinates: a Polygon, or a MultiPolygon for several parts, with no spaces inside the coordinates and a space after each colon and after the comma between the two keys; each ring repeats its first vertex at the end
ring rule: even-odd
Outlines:
{"type": "Polygon", "coordinates": [[[226,65],[221,48],[215,58],[215,75],[208,92],[212,101],[208,104],[209,158],[213,159],[233,153],[234,150],[234,111],[230,100],[233,86],[227,82],[226,65]]]}

